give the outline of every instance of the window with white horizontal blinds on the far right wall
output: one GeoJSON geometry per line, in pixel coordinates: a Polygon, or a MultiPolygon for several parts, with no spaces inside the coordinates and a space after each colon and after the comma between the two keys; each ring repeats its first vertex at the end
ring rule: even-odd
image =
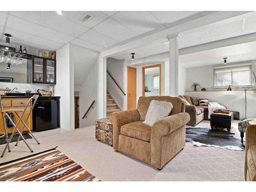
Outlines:
{"type": "Polygon", "coordinates": [[[215,68],[214,88],[251,87],[251,66],[215,68]]]}

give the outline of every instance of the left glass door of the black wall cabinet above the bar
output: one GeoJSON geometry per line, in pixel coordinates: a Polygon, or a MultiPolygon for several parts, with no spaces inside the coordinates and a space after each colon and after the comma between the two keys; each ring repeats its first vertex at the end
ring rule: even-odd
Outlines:
{"type": "Polygon", "coordinates": [[[33,60],[33,82],[43,83],[44,82],[44,59],[34,57],[33,60]]]}

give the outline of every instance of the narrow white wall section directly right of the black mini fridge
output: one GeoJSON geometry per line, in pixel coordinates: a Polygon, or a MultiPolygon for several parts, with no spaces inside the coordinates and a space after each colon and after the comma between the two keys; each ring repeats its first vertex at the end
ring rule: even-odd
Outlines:
{"type": "Polygon", "coordinates": [[[74,130],[74,63],[72,45],[68,44],[56,51],[55,95],[60,96],[60,127],[74,130]]]}

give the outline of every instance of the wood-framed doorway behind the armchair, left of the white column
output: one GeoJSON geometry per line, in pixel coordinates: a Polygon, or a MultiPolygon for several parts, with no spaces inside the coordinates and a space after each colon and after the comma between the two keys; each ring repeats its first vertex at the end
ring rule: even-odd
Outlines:
{"type": "Polygon", "coordinates": [[[161,96],[161,64],[142,67],[142,96],[161,96]]]}

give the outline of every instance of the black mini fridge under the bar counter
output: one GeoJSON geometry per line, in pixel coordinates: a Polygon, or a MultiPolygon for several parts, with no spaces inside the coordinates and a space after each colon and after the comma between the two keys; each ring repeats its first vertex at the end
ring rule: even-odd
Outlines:
{"type": "Polygon", "coordinates": [[[39,97],[33,109],[33,131],[59,127],[59,97],[39,97]]]}

